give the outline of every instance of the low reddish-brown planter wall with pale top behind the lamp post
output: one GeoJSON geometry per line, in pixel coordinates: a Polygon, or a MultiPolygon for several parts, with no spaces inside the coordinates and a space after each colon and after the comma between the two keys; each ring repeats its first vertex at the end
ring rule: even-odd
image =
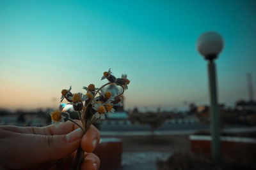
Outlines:
{"type": "MultiPolygon", "coordinates": [[[[191,152],[211,155],[211,136],[189,136],[191,152]]],[[[256,139],[234,136],[221,136],[221,153],[226,159],[256,160],[256,139]]]]}

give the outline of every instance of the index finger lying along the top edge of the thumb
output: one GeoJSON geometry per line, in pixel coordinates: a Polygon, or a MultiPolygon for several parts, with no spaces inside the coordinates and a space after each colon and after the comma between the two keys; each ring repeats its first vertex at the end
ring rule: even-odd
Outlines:
{"type": "MultiPolygon", "coordinates": [[[[79,125],[82,125],[80,120],[74,120],[79,125]]],[[[42,134],[42,135],[54,135],[54,134],[67,134],[77,129],[78,126],[73,122],[65,122],[60,124],[60,127],[54,127],[54,125],[48,125],[45,127],[19,127],[13,125],[4,125],[0,129],[10,132],[17,132],[22,134],[42,134]]]]}

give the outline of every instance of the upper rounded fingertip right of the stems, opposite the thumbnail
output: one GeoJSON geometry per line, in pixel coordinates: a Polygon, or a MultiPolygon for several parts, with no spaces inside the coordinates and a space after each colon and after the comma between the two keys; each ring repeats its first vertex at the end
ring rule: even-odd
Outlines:
{"type": "Polygon", "coordinates": [[[94,125],[90,125],[90,128],[82,138],[81,147],[85,152],[90,153],[90,152],[93,152],[94,148],[99,144],[99,141],[100,141],[99,130],[94,125]]]}

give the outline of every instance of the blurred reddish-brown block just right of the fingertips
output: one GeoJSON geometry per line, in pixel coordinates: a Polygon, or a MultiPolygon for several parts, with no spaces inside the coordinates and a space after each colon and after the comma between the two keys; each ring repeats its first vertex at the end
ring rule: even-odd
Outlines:
{"type": "Polygon", "coordinates": [[[101,138],[93,153],[100,159],[100,169],[118,169],[122,162],[122,141],[119,138],[101,138]]]}

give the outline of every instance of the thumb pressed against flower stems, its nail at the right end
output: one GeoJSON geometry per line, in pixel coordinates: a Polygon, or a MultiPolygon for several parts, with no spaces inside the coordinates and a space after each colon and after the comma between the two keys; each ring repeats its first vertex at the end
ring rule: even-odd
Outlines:
{"type": "MultiPolygon", "coordinates": [[[[10,164],[12,168],[26,168],[42,164],[51,160],[61,159],[79,148],[83,131],[76,129],[63,135],[35,135],[35,134],[18,134],[7,132],[12,138],[6,138],[4,148],[6,158],[12,158],[15,165],[10,164]],[[17,142],[19,141],[19,142],[17,142]]],[[[10,162],[10,161],[9,161],[10,162]]]]}

